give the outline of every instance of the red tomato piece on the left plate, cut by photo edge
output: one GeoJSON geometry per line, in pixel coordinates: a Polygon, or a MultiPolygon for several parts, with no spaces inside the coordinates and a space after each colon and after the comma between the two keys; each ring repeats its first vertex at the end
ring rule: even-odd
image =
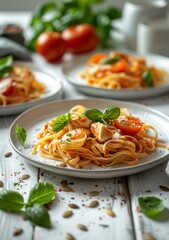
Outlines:
{"type": "Polygon", "coordinates": [[[0,80],[0,93],[9,96],[14,89],[12,78],[4,78],[0,80]]]}

